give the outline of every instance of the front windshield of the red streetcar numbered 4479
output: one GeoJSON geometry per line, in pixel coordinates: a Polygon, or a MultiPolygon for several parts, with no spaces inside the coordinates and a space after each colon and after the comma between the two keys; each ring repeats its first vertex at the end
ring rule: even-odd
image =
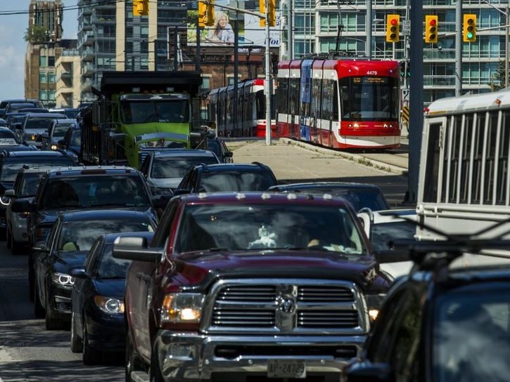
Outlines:
{"type": "Polygon", "coordinates": [[[398,121],[399,83],[392,77],[345,77],[339,80],[344,121],[398,121]]]}

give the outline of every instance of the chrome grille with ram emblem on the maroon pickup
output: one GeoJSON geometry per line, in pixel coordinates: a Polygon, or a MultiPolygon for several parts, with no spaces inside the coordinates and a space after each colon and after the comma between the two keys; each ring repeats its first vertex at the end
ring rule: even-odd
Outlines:
{"type": "Polygon", "coordinates": [[[232,280],[215,285],[205,310],[208,331],[359,334],[368,326],[352,282],[232,280]]]}

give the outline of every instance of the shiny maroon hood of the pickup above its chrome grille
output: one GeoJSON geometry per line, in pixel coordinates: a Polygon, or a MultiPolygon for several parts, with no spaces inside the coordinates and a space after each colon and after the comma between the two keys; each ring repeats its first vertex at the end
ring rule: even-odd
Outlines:
{"type": "Polygon", "coordinates": [[[362,288],[375,284],[387,288],[390,278],[380,272],[372,256],[345,256],[324,251],[201,252],[179,256],[176,263],[181,284],[200,284],[221,278],[320,278],[356,282],[362,288]]]}

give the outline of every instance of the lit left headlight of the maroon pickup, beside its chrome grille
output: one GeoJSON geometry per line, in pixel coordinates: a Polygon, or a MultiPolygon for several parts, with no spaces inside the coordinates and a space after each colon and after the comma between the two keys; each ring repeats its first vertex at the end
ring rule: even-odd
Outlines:
{"type": "Polygon", "coordinates": [[[161,322],[198,324],[205,296],[197,293],[167,294],[161,304],[161,322]]]}

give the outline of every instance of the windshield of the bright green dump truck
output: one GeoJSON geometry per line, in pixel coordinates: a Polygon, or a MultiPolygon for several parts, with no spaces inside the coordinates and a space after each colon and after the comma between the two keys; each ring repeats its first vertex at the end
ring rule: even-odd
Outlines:
{"type": "Polygon", "coordinates": [[[187,100],[125,100],[122,101],[122,121],[125,124],[189,121],[187,100]]]}

